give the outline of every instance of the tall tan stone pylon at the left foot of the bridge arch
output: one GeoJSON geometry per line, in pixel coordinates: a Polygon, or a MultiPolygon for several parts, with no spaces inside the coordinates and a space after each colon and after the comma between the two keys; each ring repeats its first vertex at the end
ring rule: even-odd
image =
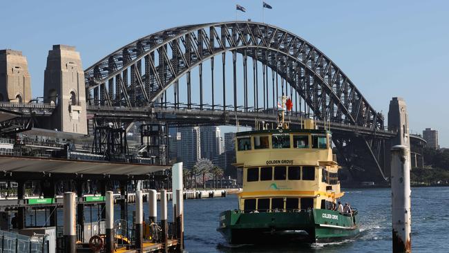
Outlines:
{"type": "Polygon", "coordinates": [[[87,134],[84,71],[74,46],[54,45],[48,52],[44,102],[56,105],[51,129],[87,134]]]}

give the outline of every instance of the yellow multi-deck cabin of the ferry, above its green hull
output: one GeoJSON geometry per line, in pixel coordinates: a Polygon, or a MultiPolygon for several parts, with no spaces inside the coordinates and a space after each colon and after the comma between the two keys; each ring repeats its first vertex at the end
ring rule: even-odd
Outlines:
{"type": "Polygon", "coordinates": [[[245,213],[330,209],[343,196],[329,131],[237,133],[236,166],[243,169],[239,209],[245,213]]]}

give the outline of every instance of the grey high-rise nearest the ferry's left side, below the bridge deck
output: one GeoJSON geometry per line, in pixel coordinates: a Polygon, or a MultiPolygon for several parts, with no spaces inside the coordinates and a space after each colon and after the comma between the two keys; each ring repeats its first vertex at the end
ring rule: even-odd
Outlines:
{"type": "Polygon", "coordinates": [[[223,153],[220,127],[200,127],[201,132],[201,158],[211,161],[223,153]]]}

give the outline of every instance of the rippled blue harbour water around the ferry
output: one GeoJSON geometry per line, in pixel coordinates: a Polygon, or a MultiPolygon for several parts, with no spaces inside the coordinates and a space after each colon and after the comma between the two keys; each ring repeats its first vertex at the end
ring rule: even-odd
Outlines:
{"type": "MultiPolygon", "coordinates": [[[[449,252],[449,187],[412,188],[413,252],[449,252]]],[[[347,189],[342,202],[359,209],[361,234],[341,243],[285,247],[227,245],[216,232],[218,216],[237,208],[237,196],[184,200],[187,252],[392,252],[390,189],[347,189]]]]}

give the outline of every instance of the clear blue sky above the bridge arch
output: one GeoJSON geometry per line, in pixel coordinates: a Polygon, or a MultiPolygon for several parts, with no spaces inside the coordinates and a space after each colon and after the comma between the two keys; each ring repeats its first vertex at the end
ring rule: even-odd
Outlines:
{"type": "MultiPolygon", "coordinates": [[[[77,47],[84,68],[164,28],[236,19],[262,21],[262,1],[3,1],[0,48],[28,58],[33,96],[42,95],[53,44],[77,47]]],[[[449,1],[274,1],[265,22],[314,44],[377,111],[408,104],[410,130],[432,127],[449,147],[449,1]]]]}

